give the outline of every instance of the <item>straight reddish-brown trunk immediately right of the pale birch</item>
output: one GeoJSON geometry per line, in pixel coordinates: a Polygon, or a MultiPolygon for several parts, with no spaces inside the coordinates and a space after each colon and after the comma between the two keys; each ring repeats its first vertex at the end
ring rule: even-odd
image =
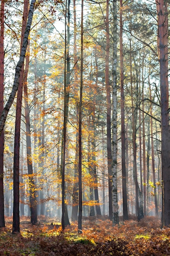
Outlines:
{"type": "Polygon", "coordinates": [[[123,194],[123,218],[128,220],[128,202],[126,189],[126,157],[125,157],[125,99],[124,99],[124,62],[123,62],[123,20],[122,0],[120,0],[120,90],[121,90],[121,172],[123,194]]]}

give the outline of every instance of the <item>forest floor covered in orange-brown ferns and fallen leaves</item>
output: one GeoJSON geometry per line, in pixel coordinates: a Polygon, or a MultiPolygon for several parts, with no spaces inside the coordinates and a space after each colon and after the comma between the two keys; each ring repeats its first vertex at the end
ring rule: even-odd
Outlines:
{"type": "Polygon", "coordinates": [[[31,225],[29,218],[22,217],[20,234],[12,235],[12,218],[5,221],[6,227],[0,228],[0,255],[170,256],[170,228],[160,229],[160,221],[155,217],[137,222],[131,216],[115,227],[104,218],[86,218],[82,234],[77,233],[77,222],[62,233],[55,219],[40,217],[38,225],[31,225]]]}

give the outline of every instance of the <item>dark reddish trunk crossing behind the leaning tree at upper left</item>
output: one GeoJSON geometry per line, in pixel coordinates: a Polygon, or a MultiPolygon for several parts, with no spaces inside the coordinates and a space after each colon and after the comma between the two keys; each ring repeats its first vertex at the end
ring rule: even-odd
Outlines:
{"type": "MultiPolygon", "coordinates": [[[[28,16],[28,0],[24,0],[24,11],[22,16],[21,48],[24,40],[24,31],[28,16]]],[[[13,157],[13,229],[12,234],[20,233],[20,126],[21,126],[21,108],[22,108],[22,90],[24,79],[24,61],[19,74],[16,116],[15,116],[15,138],[14,138],[14,157],[13,157]]]]}

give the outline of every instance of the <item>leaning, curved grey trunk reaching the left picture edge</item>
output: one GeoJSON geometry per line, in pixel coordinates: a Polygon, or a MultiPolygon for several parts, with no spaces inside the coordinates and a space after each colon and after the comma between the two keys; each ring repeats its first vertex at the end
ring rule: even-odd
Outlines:
{"type": "Polygon", "coordinates": [[[21,49],[21,52],[20,52],[20,59],[19,59],[17,65],[15,67],[15,78],[14,78],[14,82],[13,82],[12,92],[11,92],[11,94],[9,96],[9,99],[8,99],[4,109],[2,111],[2,115],[1,115],[1,118],[0,118],[0,134],[3,130],[3,127],[4,127],[5,121],[7,119],[9,109],[11,108],[11,105],[12,105],[14,99],[15,99],[16,92],[18,90],[20,72],[21,72],[22,65],[24,63],[24,58],[25,58],[25,54],[26,54],[26,47],[28,45],[29,31],[30,31],[30,28],[31,28],[35,1],[36,0],[31,0],[28,20],[27,20],[27,24],[26,24],[25,33],[24,33],[22,49],[21,49]]]}

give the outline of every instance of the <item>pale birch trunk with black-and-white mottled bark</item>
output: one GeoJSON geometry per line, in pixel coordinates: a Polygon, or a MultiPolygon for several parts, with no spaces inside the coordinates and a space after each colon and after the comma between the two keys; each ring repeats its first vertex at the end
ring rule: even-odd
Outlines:
{"type": "Polygon", "coordinates": [[[113,225],[119,224],[117,202],[117,0],[113,0],[113,136],[112,136],[112,206],[113,225]]]}

